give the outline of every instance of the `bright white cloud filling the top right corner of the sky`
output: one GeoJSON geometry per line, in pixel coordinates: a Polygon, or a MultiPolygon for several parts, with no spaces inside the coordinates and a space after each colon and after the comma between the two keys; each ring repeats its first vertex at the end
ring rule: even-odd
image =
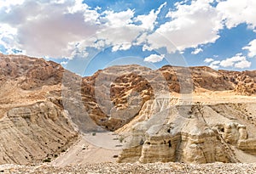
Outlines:
{"type": "Polygon", "coordinates": [[[230,29],[241,23],[247,23],[249,27],[256,27],[256,1],[255,0],[227,0],[217,5],[220,14],[223,15],[225,25],[230,29]]]}

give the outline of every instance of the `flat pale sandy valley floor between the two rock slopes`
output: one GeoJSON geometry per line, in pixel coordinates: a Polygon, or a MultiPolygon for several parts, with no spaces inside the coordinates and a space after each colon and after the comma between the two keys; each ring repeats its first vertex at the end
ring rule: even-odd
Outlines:
{"type": "Polygon", "coordinates": [[[113,132],[84,134],[67,152],[51,162],[53,166],[84,165],[115,162],[122,149],[118,135],[113,132]]]}

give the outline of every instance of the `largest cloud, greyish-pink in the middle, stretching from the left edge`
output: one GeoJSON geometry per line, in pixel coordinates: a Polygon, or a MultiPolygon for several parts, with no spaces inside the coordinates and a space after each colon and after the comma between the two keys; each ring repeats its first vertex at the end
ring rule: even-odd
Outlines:
{"type": "Polygon", "coordinates": [[[20,2],[0,3],[0,44],[8,53],[15,48],[27,55],[55,59],[72,59],[78,53],[86,56],[88,47],[113,47],[114,52],[141,44],[146,38],[138,43],[138,37],[154,29],[161,8],[166,6],[163,3],[135,18],[133,9],[98,12],[99,8],[90,8],[83,0],[20,2]],[[135,25],[136,21],[141,24],[135,25]]]}

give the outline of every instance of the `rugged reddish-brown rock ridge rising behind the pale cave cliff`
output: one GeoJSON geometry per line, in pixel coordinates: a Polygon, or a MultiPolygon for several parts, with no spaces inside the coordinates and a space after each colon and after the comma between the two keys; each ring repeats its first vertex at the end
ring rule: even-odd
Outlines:
{"type": "MultiPolygon", "coordinates": [[[[97,125],[114,131],[130,122],[149,99],[159,93],[192,93],[193,91],[235,91],[249,83],[237,82],[236,76],[254,75],[253,71],[230,72],[208,67],[172,67],[150,70],[138,65],[113,66],[84,77],[82,98],[90,118],[97,125]],[[236,79],[236,80],[234,80],[236,79]]],[[[253,83],[254,84],[254,83],[253,83]]],[[[249,94],[243,92],[242,94],[249,94]]]]}

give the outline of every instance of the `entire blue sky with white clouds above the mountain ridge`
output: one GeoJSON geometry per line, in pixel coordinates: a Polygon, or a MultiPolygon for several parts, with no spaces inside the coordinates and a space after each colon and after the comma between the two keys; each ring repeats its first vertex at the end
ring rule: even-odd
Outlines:
{"type": "Polygon", "coordinates": [[[255,0],[0,0],[0,52],[109,65],[256,69],[255,0]]]}

